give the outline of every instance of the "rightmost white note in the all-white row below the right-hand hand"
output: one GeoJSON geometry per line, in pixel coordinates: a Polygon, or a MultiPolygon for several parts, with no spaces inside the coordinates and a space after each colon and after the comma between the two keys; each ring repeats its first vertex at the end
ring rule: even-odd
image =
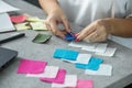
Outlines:
{"type": "Polygon", "coordinates": [[[96,53],[96,54],[101,56],[113,56],[116,51],[117,51],[116,47],[107,47],[105,53],[96,53]]]}

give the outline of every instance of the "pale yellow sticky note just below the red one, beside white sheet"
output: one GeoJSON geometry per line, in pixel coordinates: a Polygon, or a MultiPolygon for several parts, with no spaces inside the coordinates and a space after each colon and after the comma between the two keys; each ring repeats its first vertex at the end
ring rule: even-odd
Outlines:
{"type": "Polygon", "coordinates": [[[30,29],[31,29],[31,26],[29,25],[29,22],[16,23],[16,24],[14,24],[14,28],[15,28],[18,31],[21,31],[21,30],[30,30],[30,29]]]}

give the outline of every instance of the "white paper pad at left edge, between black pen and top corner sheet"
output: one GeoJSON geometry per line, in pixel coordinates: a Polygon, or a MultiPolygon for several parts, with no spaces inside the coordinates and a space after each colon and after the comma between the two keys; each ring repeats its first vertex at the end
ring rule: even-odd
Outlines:
{"type": "MultiPolygon", "coordinates": [[[[2,10],[2,9],[0,9],[2,10]]],[[[0,13],[0,33],[15,31],[8,13],[0,13]]]]}

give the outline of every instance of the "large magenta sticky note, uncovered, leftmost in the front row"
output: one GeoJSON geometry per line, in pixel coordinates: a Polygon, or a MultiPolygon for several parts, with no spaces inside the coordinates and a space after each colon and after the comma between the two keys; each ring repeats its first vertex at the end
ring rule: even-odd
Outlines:
{"type": "Polygon", "coordinates": [[[18,67],[18,74],[40,74],[44,72],[46,62],[21,59],[18,67]]]}

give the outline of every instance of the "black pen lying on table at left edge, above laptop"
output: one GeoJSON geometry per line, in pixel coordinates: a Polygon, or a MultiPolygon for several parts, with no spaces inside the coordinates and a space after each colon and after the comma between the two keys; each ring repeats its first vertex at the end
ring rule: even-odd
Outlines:
{"type": "Polygon", "coordinates": [[[4,34],[3,36],[0,37],[0,44],[23,37],[24,35],[25,35],[24,33],[10,33],[10,35],[4,34]]]}

